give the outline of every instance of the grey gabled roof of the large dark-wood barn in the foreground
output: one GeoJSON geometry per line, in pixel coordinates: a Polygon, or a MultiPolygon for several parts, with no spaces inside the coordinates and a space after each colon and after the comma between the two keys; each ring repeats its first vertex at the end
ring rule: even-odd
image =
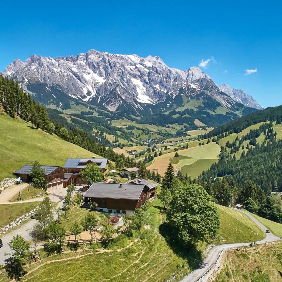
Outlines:
{"type": "Polygon", "coordinates": [[[144,184],[93,182],[84,197],[138,200],[144,186],[144,184]]]}

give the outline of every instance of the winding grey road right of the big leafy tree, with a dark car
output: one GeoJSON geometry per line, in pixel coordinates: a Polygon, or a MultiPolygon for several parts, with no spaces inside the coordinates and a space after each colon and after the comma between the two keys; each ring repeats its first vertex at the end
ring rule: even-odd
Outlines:
{"type": "MultiPolygon", "coordinates": [[[[247,212],[244,211],[239,211],[238,212],[243,212],[244,214],[248,215],[251,220],[253,220],[257,225],[261,226],[262,230],[266,230],[267,228],[263,226],[257,219],[255,219],[253,216],[248,214],[247,212]]],[[[271,233],[266,233],[266,237],[262,239],[261,241],[257,241],[256,244],[263,244],[266,242],[273,242],[273,241],[278,241],[281,240],[279,237],[271,234],[271,233]]],[[[204,259],[203,263],[199,268],[195,269],[191,273],[189,273],[187,276],[185,276],[181,282],[195,282],[197,281],[211,266],[213,263],[215,263],[218,255],[220,252],[224,249],[224,251],[228,251],[229,249],[236,248],[236,247],[241,247],[241,246],[246,246],[250,244],[248,243],[235,243],[235,244],[224,244],[224,245],[219,245],[215,246],[209,251],[208,256],[204,259]]],[[[212,272],[210,273],[212,274],[212,272]]],[[[206,279],[208,276],[206,277],[206,279]]]]}

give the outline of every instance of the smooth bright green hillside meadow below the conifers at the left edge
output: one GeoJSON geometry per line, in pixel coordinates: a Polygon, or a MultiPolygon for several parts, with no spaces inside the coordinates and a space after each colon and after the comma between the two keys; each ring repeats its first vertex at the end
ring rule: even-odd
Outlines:
{"type": "Polygon", "coordinates": [[[0,179],[12,175],[24,164],[32,164],[34,160],[43,165],[63,166],[67,158],[98,157],[56,135],[32,129],[29,123],[8,115],[0,115],[0,128],[0,179]]]}

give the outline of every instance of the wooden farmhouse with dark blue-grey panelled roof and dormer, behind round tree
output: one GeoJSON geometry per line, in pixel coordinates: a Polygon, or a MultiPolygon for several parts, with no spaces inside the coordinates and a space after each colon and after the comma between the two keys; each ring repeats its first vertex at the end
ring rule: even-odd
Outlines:
{"type": "Polygon", "coordinates": [[[65,178],[68,179],[69,184],[85,184],[85,181],[80,178],[80,170],[84,169],[87,164],[95,163],[100,167],[105,174],[107,169],[106,166],[110,162],[108,159],[95,159],[92,157],[91,159],[67,159],[64,165],[65,178]]]}

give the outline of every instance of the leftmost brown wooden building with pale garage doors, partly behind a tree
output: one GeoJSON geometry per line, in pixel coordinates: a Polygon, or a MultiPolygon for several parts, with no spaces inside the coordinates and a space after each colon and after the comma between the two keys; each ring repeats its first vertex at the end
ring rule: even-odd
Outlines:
{"type": "MultiPolygon", "coordinates": [[[[26,164],[20,169],[16,170],[14,174],[16,174],[17,177],[21,177],[24,182],[31,182],[31,176],[29,175],[31,168],[31,164],[26,164]]],[[[62,167],[41,165],[41,168],[45,171],[44,178],[48,183],[47,191],[53,191],[63,188],[63,181],[65,176],[64,169],[62,167]]]]}

